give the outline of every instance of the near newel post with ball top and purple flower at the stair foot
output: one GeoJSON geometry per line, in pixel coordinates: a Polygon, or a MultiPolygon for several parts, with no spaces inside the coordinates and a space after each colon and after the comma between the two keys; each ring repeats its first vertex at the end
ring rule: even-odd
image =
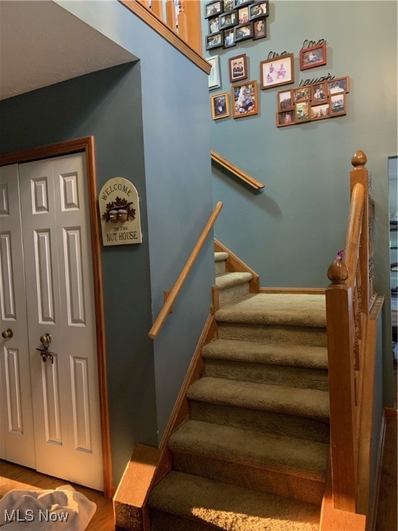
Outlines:
{"type": "Polygon", "coordinates": [[[354,316],[348,269],[335,260],[326,290],[328,334],[330,447],[334,509],[355,512],[357,448],[354,437],[354,316]]]}

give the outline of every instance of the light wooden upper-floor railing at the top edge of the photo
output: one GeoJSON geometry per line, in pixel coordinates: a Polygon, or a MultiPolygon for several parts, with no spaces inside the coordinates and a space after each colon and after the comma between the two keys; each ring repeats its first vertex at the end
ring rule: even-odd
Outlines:
{"type": "Polygon", "coordinates": [[[118,0],[140,17],[153,30],[180,50],[206,73],[211,65],[202,56],[202,25],[200,0],[118,0]]]}

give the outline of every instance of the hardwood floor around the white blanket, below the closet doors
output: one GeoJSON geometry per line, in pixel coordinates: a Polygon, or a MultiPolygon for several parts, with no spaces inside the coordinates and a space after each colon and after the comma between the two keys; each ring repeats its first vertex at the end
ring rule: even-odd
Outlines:
{"type": "Polygon", "coordinates": [[[72,485],[75,490],[97,504],[97,510],[86,531],[115,531],[113,503],[104,499],[101,492],[0,460],[0,499],[10,490],[49,490],[66,484],[72,485]]]}

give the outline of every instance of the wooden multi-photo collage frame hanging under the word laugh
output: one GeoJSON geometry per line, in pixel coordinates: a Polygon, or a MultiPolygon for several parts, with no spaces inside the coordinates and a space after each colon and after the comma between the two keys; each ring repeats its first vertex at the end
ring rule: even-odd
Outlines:
{"type": "Polygon", "coordinates": [[[276,127],[344,115],[349,92],[348,76],[278,91],[276,127]]]}

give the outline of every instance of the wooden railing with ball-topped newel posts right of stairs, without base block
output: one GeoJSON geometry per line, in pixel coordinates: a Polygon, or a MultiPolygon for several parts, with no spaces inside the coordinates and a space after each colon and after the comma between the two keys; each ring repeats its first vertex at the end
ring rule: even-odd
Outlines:
{"type": "Polygon", "coordinates": [[[359,401],[366,325],[377,294],[373,288],[372,216],[366,155],[352,158],[351,203],[343,256],[328,270],[330,447],[334,509],[357,512],[359,401]]]}

